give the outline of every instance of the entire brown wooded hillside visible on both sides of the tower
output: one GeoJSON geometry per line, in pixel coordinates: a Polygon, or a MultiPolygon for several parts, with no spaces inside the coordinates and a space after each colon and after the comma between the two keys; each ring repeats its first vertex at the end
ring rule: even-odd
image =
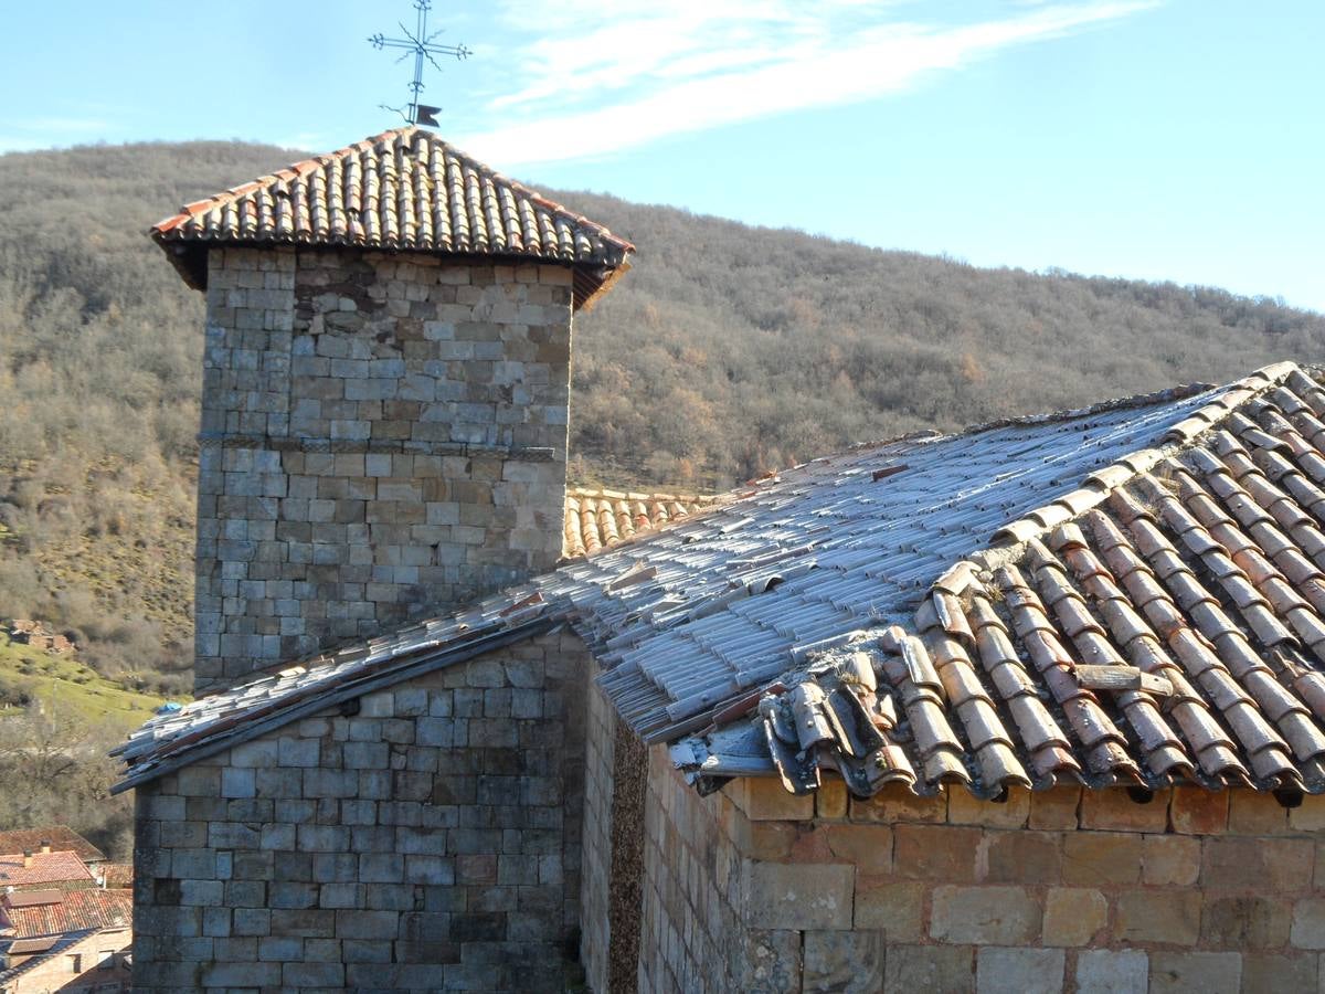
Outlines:
{"type": "MultiPolygon", "coordinates": [[[[0,156],[0,616],[53,622],[142,689],[187,687],[203,327],[144,231],[294,158],[221,142],[0,156]]],[[[582,481],[719,488],[918,427],[1325,358],[1325,318],[1269,301],[545,192],[639,247],[576,322],[582,481]]]]}

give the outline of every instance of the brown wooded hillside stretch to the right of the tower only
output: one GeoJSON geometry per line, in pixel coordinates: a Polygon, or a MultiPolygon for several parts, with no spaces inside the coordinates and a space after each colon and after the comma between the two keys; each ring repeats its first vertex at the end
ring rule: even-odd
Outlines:
{"type": "Polygon", "coordinates": [[[743,477],[851,441],[1325,357],[1325,317],[1268,300],[564,196],[639,247],[576,323],[572,448],[649,478],[743,477]]]}

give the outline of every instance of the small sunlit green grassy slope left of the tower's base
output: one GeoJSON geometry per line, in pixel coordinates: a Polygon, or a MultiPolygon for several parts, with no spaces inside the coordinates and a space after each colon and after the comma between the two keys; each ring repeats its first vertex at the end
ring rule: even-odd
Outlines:
{"type": "Polygon", "coordinates": [[[33,702],[46,714],[72,716],[89,730],[107,728],[127,733],[150,718],[164,700],[107,680],[76,657],[21,645],[0,634],[0,717],[33,702]]]}

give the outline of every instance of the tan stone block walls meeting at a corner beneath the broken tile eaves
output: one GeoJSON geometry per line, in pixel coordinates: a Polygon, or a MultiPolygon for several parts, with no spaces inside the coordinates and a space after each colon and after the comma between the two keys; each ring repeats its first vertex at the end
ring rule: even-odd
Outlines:
{"type": "Polygon", "coordinates": [[[640,990],[1271,991],[1325,981],[1325,798],[700,798],[651,759],[640,990]]]}

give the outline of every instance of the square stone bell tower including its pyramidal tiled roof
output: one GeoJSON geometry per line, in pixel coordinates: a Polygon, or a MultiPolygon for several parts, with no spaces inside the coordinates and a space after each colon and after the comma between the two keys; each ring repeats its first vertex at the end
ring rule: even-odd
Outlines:
{"type": "Polygon", "coordinates": [[[197,692],[553,566],[571,315],[629,243],[416,127],[152,236],[207,293],[197,692]]]}

